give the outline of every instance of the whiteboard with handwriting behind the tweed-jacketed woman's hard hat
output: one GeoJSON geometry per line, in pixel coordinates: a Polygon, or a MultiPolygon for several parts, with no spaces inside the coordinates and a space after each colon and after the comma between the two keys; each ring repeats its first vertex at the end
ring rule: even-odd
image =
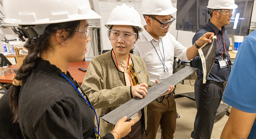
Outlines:
{"type": "Polygon", "coordinates": [[[102,43],[102,50],[110,50],[112,49],[110,40],[107,36],[108,29],[104,26],[109,19],[110,12],[117,6],[121,6],[122,4],[126,4],[127,6],[133,6],[134,9],[140,14],[141,16],[141,24],[144,26],[146,25],[146,21],[141,14],[141,2],[106,2],[106,1],[99,1],[99,9],[101,15],[101,43],[102,43]]]}

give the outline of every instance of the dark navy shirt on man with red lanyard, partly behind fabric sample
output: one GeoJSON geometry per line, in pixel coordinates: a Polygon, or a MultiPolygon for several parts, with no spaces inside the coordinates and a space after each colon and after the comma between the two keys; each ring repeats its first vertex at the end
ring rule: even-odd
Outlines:
{"type": "MultiPolygon", "coordinates": [[[[225,26],[222,27],[222,30],[219,30],[218,27],[216,27],[213,23],[208,21],[207,24],[205,24],[203,27],[201,27],[199,30],[196,31],[195,36],[193,37],[192,44],[195,43],[196,40],[198,40],[201,36],[203,36],[206,32],[213,32],[214,36],[216,36],[215,32],[217,34],[218,40],[217,40],[217,50],[216,50],[216,57],[215,61],[212,67],[212,70],[210,71],[209,76],[207,77],[207,80],[215,81],[215,82],[225,82],[227,81],[229,77],[229,73],[231,70],[230,66],[227,66],[225,68],[220,68],[218,60],[221,59],[222,52],[226,53],[228,57],[230,58],[228,54],[228,48],[230,45],[229,37],[227,35],[227,28],[225,26]],[[224,42],[225,40],[225,42],[224,42]],[[224,43],[225,43],[225,49],[224,49],[224,43]]],[[[198,77],[203,78],[203,69],[202,69],[202,62],[199,54],[193,58],[193,60],[190,62],[191,67],[198,68],[196,71],[196,74],[198,77]]]]}

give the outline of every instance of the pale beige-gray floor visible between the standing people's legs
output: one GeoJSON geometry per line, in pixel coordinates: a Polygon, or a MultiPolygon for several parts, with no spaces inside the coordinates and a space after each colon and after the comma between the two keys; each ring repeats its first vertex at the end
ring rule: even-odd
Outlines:
{"type": "MultiPolygon", "coordinates": [[[[193,85],[195,80],[191,80],[193,85]]],[[[191,86],[189,80],[184,81],[184,85],[179,83],[176,86],[175,93],[187,93],[194,92],[194,86],[191,86]]],[[[188,99],[186,97],[175,99],[177,112],[181,118],[177,119],[176,131],[174,133],[174,139],[190,139],[190,134],[193,130],[194,120],[196,115],[196,103],[195,101],[188,99]]],[[[228,116],[224,115],[218,120],[215,120],[212,132],[213,139],[219,139],[222,129],[224,128],[227,122],[228,116]]],[[[158,128],[156,139],[161,139],[161,129],[158,128]]]]}

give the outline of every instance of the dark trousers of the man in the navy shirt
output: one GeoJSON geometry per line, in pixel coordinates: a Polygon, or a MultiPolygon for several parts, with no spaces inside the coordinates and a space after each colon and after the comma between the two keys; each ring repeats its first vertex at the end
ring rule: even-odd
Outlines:
{"type": "Polygon", "coordinates": [[[201,78],[195,81],[195,102],[197,113],[195,116],[194,131],[191,137],[194,139],[210,139],[215,115],[221,102],[225,89],[223,82],[206,81],[203,84],[201,78]]]}

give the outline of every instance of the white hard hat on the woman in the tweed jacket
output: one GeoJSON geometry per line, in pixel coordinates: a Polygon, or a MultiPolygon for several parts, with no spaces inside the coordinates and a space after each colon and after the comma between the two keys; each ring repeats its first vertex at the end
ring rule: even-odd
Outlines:
{"type": "Polygon", "coordinates": [[[140,14],[132,6],[122,4],[116,6],[109,15],[108,23],[105,27],[110,28],[112,25],[130,25],[138,28],[139,32],[143,31],[140,14]]]}

